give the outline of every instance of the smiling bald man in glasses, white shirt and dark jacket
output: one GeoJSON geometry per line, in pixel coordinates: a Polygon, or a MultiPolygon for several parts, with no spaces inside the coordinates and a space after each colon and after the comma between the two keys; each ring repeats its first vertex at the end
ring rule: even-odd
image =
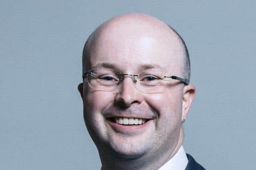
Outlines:
{"type": "Polygon", "coordinates": [[[189,78],[185,43],[157,18],[124,14],[90,35],[78,89],[102,170],[204,169],[182,147],[189,78]]]}

